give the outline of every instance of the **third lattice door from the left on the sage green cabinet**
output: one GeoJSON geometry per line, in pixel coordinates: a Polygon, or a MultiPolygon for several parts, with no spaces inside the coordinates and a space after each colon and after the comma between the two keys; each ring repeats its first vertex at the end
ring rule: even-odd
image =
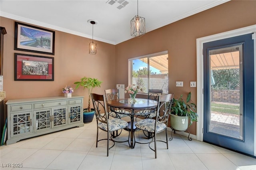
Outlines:
{"type": "Polygon", "coordinates": [[[52,109],[52,128],[68,125],[67,107],[56,107],[52,109]]]}

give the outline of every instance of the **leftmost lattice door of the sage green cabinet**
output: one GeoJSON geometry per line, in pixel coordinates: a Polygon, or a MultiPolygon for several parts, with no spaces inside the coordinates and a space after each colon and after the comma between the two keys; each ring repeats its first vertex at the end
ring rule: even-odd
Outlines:
{"type": "Polygon", "coordinates": [[[11,137],[32,133],[32,111],[12,113],[11,137]]]}

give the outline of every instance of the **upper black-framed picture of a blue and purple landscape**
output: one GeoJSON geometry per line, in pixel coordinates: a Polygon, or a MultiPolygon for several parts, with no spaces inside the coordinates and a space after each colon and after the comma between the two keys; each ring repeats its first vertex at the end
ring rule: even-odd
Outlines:
{"type": "Polygon", "coordinates": [[[14,39],[14,50],[54,55],[54,31],[15,22],[14,39]]]}

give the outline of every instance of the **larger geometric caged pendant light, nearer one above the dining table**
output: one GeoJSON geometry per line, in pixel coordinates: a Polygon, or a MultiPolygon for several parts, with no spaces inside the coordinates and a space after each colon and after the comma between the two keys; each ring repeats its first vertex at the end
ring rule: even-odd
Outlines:
{"type": "Polygon", "coordinates": [[[131,20],[131,36],[141,37],[146,34],[145,18],[138,15],[138,0],[137,0],[137,15],[131,20]]]}

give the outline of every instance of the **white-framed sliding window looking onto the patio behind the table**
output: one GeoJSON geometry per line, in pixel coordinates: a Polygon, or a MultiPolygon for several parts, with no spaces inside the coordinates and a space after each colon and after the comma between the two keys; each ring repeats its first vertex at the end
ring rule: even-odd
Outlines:
{"type": "Polygon", "coordinates": [[[129,84],[148,89],[162,89],[168,93],[168,51],[143,55],[128,60],[129,84]]]}

